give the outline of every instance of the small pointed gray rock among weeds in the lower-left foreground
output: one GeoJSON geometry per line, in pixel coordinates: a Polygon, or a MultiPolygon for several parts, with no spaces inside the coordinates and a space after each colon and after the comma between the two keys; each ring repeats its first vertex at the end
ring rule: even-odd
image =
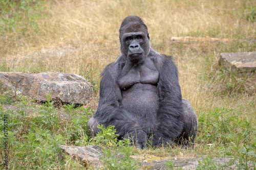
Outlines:
{"type": "Polygon", "coordinates": [[[75,147],[60,145],[64,153],[77,157],[87,167],[98,168],[100,166],[99,158],[102,155],[102,149],[96,145],[87,147],[75,147]]]}

